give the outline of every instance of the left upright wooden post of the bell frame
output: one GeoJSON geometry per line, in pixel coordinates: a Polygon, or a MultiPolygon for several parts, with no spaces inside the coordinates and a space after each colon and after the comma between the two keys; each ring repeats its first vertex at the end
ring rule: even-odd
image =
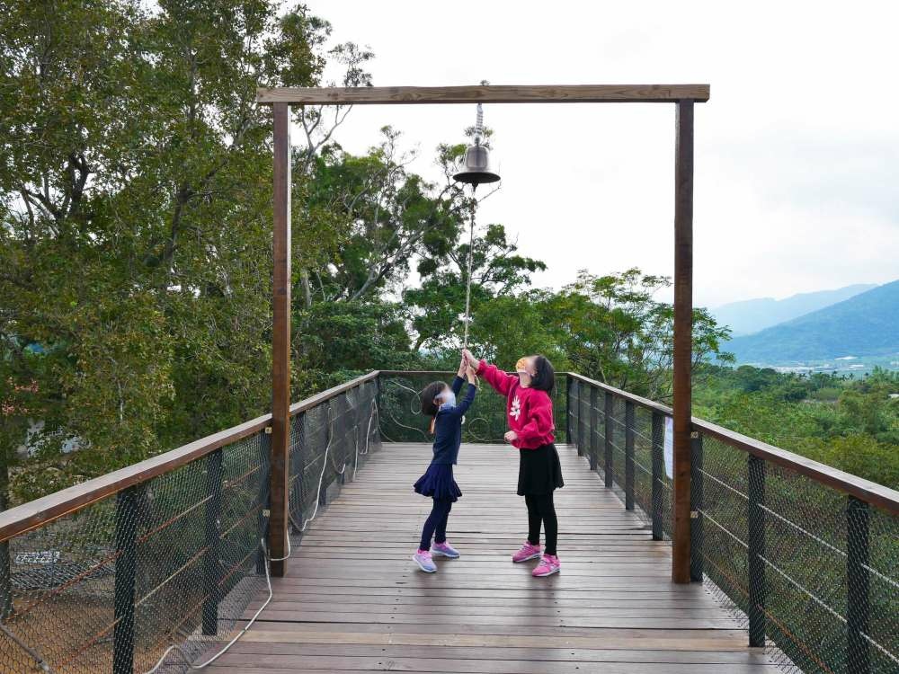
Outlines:
{"type": "MultiPolygon", "coordinates": [[[[275,103],[274,113],[274,282],[271,331],[271,509],[269,554],[287,556],[288,460],[290,452],[290,106],[275,103]]],[[[285,562],[272,562],[271,575],[283,576],[285,562]]]]}

